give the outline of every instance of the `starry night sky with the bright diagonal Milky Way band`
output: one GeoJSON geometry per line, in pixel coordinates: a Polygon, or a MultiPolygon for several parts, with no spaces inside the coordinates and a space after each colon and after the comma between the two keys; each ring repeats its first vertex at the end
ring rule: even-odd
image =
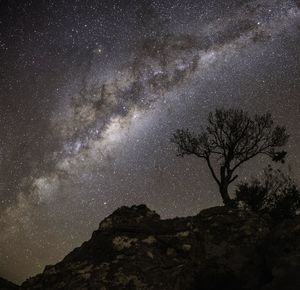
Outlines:
{"type": "Polygon", "coordinates": [[[216,107],[271,112],[299,181],[298,0],[0,0],[0,276],[41,272],[122,205],[220,205],[170,143],[216,107]]]}

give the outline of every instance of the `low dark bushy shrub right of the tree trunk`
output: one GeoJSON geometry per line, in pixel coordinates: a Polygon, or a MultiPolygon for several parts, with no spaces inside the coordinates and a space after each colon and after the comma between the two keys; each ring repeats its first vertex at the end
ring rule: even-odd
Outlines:
{"type": "Polygon", "coordinates": [[[262,178],[238,184],[236,203],[243,202],[250,210],[268,213],[274,221],[296,215],[300,209],[300,192],[293,179],[270,165],[262,178]]]}

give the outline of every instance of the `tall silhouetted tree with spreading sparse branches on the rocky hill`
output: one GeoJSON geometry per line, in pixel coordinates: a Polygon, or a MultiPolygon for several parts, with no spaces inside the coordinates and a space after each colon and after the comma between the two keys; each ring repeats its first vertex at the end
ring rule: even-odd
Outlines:
{"type": "Polygon", "coordinates": [[[260,154],[283,162],[286,152],[278,149],[287,140],[286,128],[274,126],[270,113],[250,117],[238,109],[216,109],[209,113],[206,130],[196,134],[179,129],[171,138],[177,145],[178,156],[195,155],[206,161],[227,206],[233,205],[228,187],[237,179],[237,169],[260,154]]]}

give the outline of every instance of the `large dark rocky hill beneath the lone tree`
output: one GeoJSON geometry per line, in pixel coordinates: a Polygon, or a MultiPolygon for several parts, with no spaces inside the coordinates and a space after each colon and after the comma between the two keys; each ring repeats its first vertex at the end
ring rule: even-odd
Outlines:
{"type": "Polygon", "coordinates": [[[300,219],[272,228],[225,207],[169,220],[144,205],[121,207],[21,289],[298,290],[300,219]]]}

